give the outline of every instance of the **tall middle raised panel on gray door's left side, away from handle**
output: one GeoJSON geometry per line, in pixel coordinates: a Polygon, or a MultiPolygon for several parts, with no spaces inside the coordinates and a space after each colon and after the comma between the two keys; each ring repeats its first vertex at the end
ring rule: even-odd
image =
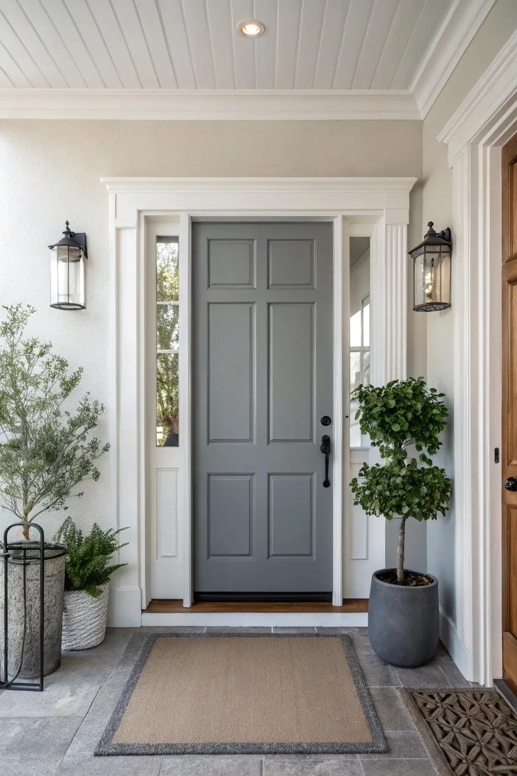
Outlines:
{"type": "Polygon", "coordinates": [[[253,442],[253,303],[209,303],[209,444],[253,442]]]}

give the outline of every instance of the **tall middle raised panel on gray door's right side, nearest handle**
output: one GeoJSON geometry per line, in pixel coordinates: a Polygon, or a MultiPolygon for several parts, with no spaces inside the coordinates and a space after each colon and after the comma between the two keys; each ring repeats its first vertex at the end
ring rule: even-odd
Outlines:
{"type": "Polygon", "coordinates": [[[313,303],[269,305],[269,442],[314,439],[313,303]]]}

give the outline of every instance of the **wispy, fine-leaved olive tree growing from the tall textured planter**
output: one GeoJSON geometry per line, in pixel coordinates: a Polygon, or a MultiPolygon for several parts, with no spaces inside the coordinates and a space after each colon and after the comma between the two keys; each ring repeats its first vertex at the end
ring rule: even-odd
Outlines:
{"type": "Polygon", "coordinates": [[[52,352],[50,342],[24,338],[33,307],[4,307],[0,323],[0,505],[29,525],[42,512],[67,509],[81,480],[98,480],[96,460],[109,449],[91,432],[104,406],[88,393],[73,411],[67,400],[82,368],[52,352]]]}

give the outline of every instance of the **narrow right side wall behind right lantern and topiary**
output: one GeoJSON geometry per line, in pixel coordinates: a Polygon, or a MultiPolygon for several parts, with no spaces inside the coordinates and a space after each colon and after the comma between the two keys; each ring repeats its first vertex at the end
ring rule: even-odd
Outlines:
{"type": "MultiPolygon", "coordinates": [[[[446,145],[438,143],[436,136],[445,126],[481,77],[508,37],[517,26],[517,2],[498,0],[485,19],[472,43],[461,58],[456,70],[429,111],[422,127],[422,229],[428,220],[435,227],[450,226],[455,232],[451,217],[452,175],[447,164],[446,145]]],[[[452,260],[454,261],[454,255],[452,260]]],[[[452,304],[454,304],[452,289],[452,304]]],[[[446,393],[452,412],[453,397],[453,310],[429,314],[427,317],[427,378],[429,384],[446,393]]],[[[453,476],[453,418],[444,438],[438,461],[453,476]]],[[[439,577],[440,601],[455,622],[454,602],[454,505],[446,518],[429,523],[427,528],[427,569],[439,577]]]]}

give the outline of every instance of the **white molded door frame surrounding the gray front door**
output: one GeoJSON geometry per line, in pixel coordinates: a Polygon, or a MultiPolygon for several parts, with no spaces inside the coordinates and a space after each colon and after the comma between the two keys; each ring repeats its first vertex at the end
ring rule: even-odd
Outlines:
{"type": "MultiPolygon", "coordinates": [[[[343,600],[343,473],[348,472],[348,424],[343,413],[343,360],[348,316],[350,223],[375,224],[371,251],[372,351],[375,383],[406,376],[407,224],[416,178],[102,178],[109,189],[111,252],[113,509],[129,525],[128,563],[112,584],[109,622],[140,625],[150,594],[146,583],[145,380],[143,267],[146,218],[180,220],[180,435],[179,514],[183,523],[184,606],[192,597],[191,542],[191,222],[222,220],[329,220],[334,231],[334,444],[333,602],[343,600]]],[[[356,231],[357,233],[357,231],[356,231]]],[[[345,475],[347,476],[347,475],[345,475]]],[[[384,559],[383,559],[384,560],[384,559]]],[[[178,596],[179,597],[179,596],[178,596]]],[[[331,615],[336,617],[336,615],[331,615]]],[[[346,615],[340,615],[341,617],[346,615]]]]}

